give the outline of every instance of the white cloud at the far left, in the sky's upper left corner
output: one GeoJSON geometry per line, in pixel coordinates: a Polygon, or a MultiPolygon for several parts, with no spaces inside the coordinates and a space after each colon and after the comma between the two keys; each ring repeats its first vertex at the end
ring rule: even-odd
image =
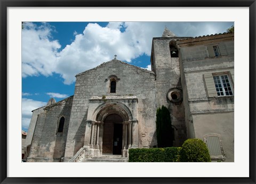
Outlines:
{"type": "Polygon", "coordinates": [[[44,23],[35,26],[26,22],[22,29],[22,77],[49,76],[55,71],[58,59],[58,41],[51,41],[52,27],[44,23]]]}

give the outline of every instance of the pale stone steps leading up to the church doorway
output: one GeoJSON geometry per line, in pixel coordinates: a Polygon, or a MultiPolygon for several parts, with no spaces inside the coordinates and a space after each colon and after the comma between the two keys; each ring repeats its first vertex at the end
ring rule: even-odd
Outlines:
{"type": "Polygon", "coordinates": [[[128,162],[128,158],[122,157],[122,155],[101,155],[84,159],[83,162],[128,162]]]}

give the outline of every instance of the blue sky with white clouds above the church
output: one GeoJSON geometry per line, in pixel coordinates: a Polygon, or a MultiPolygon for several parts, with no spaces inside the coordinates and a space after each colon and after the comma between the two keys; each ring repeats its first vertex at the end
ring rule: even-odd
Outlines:
{"type": "Polygon", "coordinates": [[[75,75],[117,59],[148,70],[153,37],[224,33],[234,22],[25,22],[22,29],[22,130],[31,110],[74,94],[75,75]]]}

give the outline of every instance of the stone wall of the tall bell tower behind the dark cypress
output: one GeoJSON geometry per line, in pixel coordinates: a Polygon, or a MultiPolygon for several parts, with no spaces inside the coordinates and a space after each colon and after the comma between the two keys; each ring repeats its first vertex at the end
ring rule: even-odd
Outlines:
{"type": "Polygon", "coordinates": [[[168,92],[179,89],[182,97],[180,81],[179,58],[171,57],[169,43],[180,37],[153,38],[151,66],[156,73],[157,107],[165,106],[169,109],[174,128],[173,146],[181,146],[187,139],[185,111],[182,100],[179,103],[167,98],[168,92]]]}

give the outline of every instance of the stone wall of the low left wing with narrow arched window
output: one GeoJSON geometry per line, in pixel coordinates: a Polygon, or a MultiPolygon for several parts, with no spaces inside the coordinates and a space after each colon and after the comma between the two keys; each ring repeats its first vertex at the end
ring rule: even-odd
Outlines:
{"type": "Polygon", "coordinates": [[[73,96],[46,106],[43,113],[38,115],[27,162],[61,161],[65,154],[72,100],[73,96]],[[63,132],[58,132],[62,116],[65,117],[63,132]]]}

